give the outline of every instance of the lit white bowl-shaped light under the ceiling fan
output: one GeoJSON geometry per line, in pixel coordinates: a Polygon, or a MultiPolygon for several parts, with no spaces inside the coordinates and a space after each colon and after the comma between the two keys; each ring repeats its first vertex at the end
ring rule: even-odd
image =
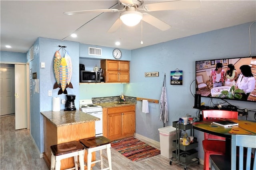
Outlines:
{"type": "Polygon", "coordinates": [[[120,14],[120,20],[126,26],[136,26],[142,20],[142,13],[137,11],[125,11],[120,14]]]}

